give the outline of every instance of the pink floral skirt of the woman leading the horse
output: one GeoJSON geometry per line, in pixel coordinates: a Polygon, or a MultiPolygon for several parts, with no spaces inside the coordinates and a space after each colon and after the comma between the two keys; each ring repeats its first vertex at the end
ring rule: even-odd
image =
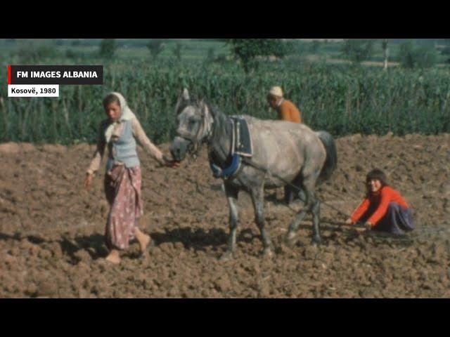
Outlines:
{"type": "Polygon", "coordinates": [[[110,204],[106,220],[105,243],[108,249],[127,249],[134,239],[136,220],[143,214],[141,167],[119,165],[105,174],[105,194],[110,204]]]}

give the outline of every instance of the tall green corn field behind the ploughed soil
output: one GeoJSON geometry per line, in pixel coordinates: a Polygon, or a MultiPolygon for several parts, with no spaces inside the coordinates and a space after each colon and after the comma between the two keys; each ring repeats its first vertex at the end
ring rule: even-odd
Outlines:
{"type": "Polygon", "coordinates": [[[184,87],[226,114],[276,119],[266,92],[279,85],[305,124],[333,136],[450,132],[449,75],[448,68],[383,72],[294,62],[267,62],[246,75],[231,62],[116,61],[105,64],[103,86],[60,86],[59,98],[8,98],[2,86],[0,142],[94,143],[108,91],[124,95],[150,139],[166,142],[174,136],[174,107],[184,87]]]}

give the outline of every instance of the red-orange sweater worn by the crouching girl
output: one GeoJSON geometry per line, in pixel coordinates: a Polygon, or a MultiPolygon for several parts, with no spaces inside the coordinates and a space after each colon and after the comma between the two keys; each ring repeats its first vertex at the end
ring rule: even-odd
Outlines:
{"type": "Polygon", "coordinates": [[[358,221],[368,209],[371,209],[373,210],[373,213],[371,217],[368,218],[367,222],[375,226],[376,223],[385,216],[387,206],[389,206],[390,202],[397,202],[397,204],[406,209],[409,207],[399,192],[390,186],[384,186],[377,193],[371,193],[369,197],[366,197],[366,199],[359,204],[358,208],[352,214],[352,221],[358,221]]]}

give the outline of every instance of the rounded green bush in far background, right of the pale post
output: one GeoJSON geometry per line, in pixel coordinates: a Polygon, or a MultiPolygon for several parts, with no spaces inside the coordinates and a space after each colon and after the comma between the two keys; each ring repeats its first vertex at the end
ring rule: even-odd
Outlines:
{"type": "Polygon", "coordinates": [[[437,62],[437,51],[433,46],[413,46],[406,42],[400,45],[397,58],[404,68],[429,68],[437,62]]]}

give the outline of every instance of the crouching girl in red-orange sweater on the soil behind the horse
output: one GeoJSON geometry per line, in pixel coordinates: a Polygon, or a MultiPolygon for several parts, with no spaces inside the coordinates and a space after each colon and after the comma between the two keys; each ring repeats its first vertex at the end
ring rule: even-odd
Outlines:
{"type": "Polygon", "coordinates": [[[366,230],[403,235],[413,230],[411,209],[401,194],[387,184],[385,173],[379,169],[366,176],[366,198],[346,223],[365,223],[366,230]]]}

